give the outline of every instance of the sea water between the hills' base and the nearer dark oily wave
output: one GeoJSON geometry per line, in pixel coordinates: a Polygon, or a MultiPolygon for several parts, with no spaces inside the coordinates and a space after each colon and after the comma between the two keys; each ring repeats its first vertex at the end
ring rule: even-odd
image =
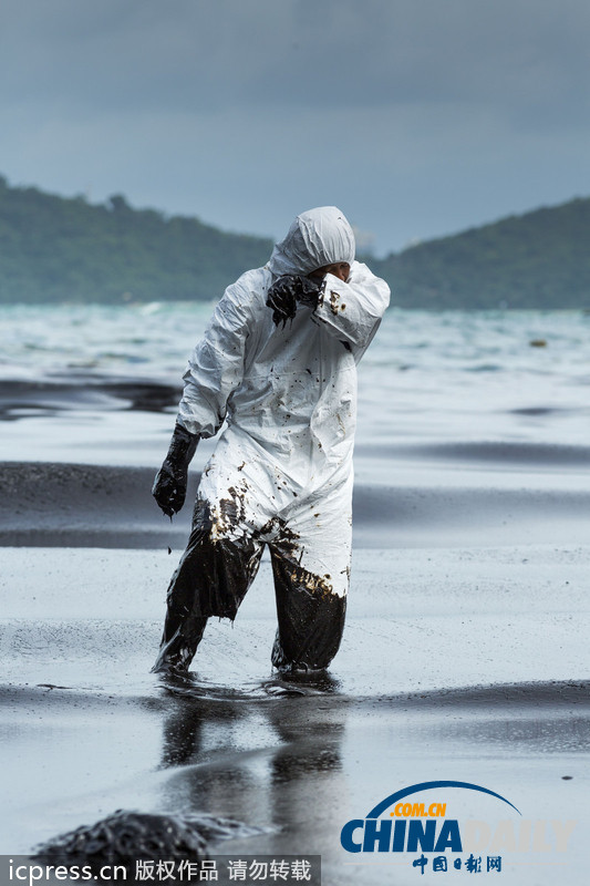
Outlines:
{"type": "MultiPolygon", "coordinates": [[[[1,308],[1,457],[157,463],[211,309],[1,308]]],[[[587,313],[393,309],[360,367],[358,459],[584,446],[589,388],[587,313]]]]}

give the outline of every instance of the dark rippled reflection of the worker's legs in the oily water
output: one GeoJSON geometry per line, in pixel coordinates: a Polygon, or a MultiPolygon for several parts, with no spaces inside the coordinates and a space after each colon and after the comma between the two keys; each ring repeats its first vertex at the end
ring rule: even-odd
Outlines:
{"type": "MultiPolygon", "coordinates": [[[[256,822],[268,828],[257,835],[259,853],[296,852],[297,832],[298,846],[319,854],[327,818],[338,823],[337,813],[349,800],[342,745],[351,709],[330,702],[325,682],[299,682],[312,676],[296,676],[297,687],[310,690],[299,696],[169,696],[159,766],[169,772],[159,783],[162,807],[201,820],[225,818],[227,812],[235,822],[256,822]]],[[[239,832],[227,836],[239,837],[239,832]]],[[[338,833],[334,841],[338,845],[338,833]]]]}

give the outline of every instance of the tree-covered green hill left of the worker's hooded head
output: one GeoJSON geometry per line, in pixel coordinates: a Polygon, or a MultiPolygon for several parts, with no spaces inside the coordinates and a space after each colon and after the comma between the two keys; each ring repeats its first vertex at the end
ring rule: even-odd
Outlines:
{"type": "Polygon", "coordinates": [[[94,206],[0,178],[0,303],[216,299],[271,247],[122,196],[94,206]]]}

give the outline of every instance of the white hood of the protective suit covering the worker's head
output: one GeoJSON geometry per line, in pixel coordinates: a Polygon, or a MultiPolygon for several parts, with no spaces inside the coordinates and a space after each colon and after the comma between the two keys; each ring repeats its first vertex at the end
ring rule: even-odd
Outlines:
{"type": "Polygon", "coordinates": [[[272,250],[268,268],[278,277],[308,275],[338,261],[354,261],[354,234],[340,209],[319,206],[297,216],[287,237],[272,250]]]}

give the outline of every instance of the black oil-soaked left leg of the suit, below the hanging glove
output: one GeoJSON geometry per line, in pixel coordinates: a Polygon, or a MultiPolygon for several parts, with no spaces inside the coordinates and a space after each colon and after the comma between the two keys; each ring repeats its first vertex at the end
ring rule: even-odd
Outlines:
{"type": "Polygon", "coordinates": [[[153,670],[188,668],[215,615],[234,620],[252,584],[263,545],[252,538],[218,537],[210,508],[197,498],[187,548],[167,593],[164,635],[153,670]]]}

